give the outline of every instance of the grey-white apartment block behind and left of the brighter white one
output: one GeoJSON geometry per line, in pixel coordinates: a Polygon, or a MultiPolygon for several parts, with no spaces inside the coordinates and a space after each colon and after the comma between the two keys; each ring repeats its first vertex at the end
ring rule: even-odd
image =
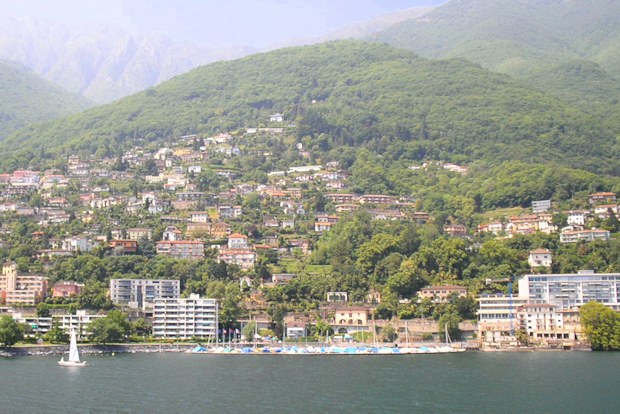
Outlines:
{"type": "Polygon", "coordinates": [[[115,304],[144,309],[156,299],[176,299],[181,292],[178,280],[111,279],[110,298],[115,304]]]}

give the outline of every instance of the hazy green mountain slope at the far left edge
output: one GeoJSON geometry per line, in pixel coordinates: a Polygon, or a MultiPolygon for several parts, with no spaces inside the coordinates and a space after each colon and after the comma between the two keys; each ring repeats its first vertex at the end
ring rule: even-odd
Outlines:
{"type": "Polygon", "coordinates": [[[0,140],[26,125],[92,106],[16,62],[0,61],[0,140]]]}

